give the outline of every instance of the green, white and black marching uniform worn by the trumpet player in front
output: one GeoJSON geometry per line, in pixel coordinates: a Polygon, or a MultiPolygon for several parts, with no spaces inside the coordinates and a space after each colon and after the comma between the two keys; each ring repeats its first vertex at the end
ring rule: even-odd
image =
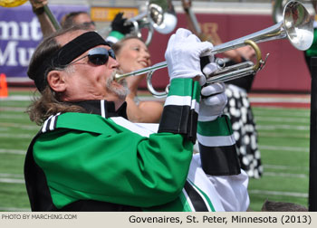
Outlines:
{"type": "MultiPolygon", "coordinates": [[[[239,185],[239,195],[229,187],[227,193],[234,194],[230,199],[244,202],[230,208],[216,189],[224,185],[223,177],[210,180],[192,159],[199,94],[197,82],[173,80],[159,133],[148,128],[153,125],[122,118],[124,107],[114,111],[113,103],[105,100],[78,103],[94,114],[63,113],[47,119],[25,159],[32,210],[246,210],[246,176],[227,176],[239,185]]],[[[226,135],[229,126],[223,126],[226,135]]]]}

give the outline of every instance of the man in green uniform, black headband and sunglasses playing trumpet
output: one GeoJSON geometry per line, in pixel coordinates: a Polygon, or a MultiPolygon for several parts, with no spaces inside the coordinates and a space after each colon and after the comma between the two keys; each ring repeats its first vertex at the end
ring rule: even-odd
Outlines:
{"type": "Polygon", "coordinates": [[[199,57],[212,48],[185,29],[170,37],[169,96],[149,128],[126,119],[120,64],[98,33],[75,26],[45,38],[28,69],[41,93],[28,113],[43,124],[24,164],[32,211],[245,211],[225,87],[201,90],[199,57]]]}

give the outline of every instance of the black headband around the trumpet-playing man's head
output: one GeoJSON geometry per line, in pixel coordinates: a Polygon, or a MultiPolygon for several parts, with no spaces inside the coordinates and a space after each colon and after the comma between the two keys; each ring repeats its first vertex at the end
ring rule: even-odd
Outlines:
{"type": "Polygon", "coordinates": [[[53,52],[53,54],[45,58],[43,63],[39,67],[35,68],[34,71],[31,71],[29,68],[27,74],[34,80],[37,89],[43,91],[47,85],[45,78],[45,71],[47,71],[47,69],[52,66],[56,68],[63,68],[82,53],[101,44],[110,46],[110,44],[96,32],[83,33],[73,39],[70,43],[63,45],[58,51],[53,52]]]}

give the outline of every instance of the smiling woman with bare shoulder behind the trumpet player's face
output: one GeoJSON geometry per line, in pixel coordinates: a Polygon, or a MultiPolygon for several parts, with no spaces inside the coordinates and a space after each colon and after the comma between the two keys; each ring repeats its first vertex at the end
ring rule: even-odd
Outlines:
{"type": "MultiPolygon", "coordinates": [[[[137,36],[123,38],[120,42],[112,44],[112,49],[116,53],[120,70],[123,73],[137,71],[150,65],[148,47],[137,36]]],[[[146,74],[127,78],[130,90],[126,98],[128,118],[132,122],[159,123],[163,105],[158,101],[140,101],[138,99],[139,83],[145,76],[146,74]]]]}

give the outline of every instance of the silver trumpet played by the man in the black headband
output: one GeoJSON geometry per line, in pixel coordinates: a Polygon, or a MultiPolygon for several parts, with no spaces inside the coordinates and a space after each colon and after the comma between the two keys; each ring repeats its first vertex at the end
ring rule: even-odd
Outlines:
{"type": "MultiPolygon", "coordinates": [[[[287,38],[298,50],[305,51],[312,45],[313,27],[312,19],[307,9],[302,3],[297,1],[288,2],[283,8],[283,20],[273,26],[256,33],[246,35],[244,37],[235,39],[233,41],[222,43],[214,46],[213,50],[204,53],[204,56],[212,55],[220,52],[226,52],[245,45],[250,45],[255,49],[256,62],[243,62],[230,67],[216,71],[210,75],[206,75],[207,83],[225,82],[240,77],[245,77],[250,74],[255,74],[257,71],[263,69],[266,58],[262,60],[262,53],[256,43],[263,43],[278,39],[287,38]]],[[[136,76],[148,72],[147,86],[148,90],[155,97],[164,97],[168,94],[168,87],[165,91],[159,92],[153,88],[151,78],[154,71],[167,67],[167,62],[159,62],[151,67],[141,69],[139,71],[132,71],[125,74],[117,74],[115,79],[120,81],[125,77],[136,76]]]]}

